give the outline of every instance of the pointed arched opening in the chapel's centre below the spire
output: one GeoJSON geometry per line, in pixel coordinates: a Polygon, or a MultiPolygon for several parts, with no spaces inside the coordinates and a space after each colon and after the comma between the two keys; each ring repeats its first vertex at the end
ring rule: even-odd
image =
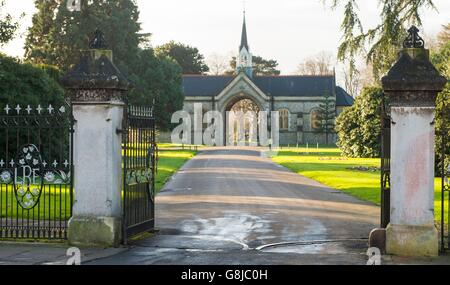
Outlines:
{"type": "Polygon", "coordinates": [[[257,144],[260,111],[261,106],[251,97],[239,96],[231,100],[226,105],[224,116],[226,142],[230,145],[257,144]]]}

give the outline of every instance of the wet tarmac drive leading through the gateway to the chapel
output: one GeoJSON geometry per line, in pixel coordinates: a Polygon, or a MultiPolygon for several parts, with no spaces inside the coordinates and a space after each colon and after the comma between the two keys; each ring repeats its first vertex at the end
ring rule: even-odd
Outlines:
{"type": "Polygon", "coordinates": [[[158,195],[159,232],[92,264],[365,264],[379,208],[261,154],[202,151],[158,195]]]}

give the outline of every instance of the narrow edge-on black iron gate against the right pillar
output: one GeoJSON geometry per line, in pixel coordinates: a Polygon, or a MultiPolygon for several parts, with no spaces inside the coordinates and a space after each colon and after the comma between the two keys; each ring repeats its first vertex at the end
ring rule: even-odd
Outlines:
{"type": "Polygon", "coordinates": [[[391,117],[383,94],[381,104],[381,227],[390,222],[391,208],[391,117]]]}

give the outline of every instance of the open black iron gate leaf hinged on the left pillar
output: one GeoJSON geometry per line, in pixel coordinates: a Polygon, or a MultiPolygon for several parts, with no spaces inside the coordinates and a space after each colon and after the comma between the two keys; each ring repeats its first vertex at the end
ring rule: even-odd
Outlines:
{"type": "Polygon", "coordinates": [[[153,108],[128,106],[123,132],[124,243],[154,229],[155,175],[158,160],[153,108]]]}

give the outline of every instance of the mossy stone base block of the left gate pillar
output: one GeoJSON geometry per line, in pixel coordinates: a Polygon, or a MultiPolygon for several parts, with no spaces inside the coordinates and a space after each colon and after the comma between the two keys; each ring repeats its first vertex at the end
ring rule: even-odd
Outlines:
{"type": "Polygon", "coordinates": [[[118,247],[122,241],[122,220],[113,217],[72,218],[68,238],[75,246],[118,247]]]}

